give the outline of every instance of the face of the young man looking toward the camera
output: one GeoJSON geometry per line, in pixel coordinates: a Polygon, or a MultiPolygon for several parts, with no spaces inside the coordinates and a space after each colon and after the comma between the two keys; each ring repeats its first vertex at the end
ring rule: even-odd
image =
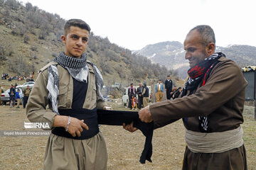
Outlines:
{"type": "Polygon", "coordinates": [[[65,55],[80,58],[89,40],[89,32],[79,27],[71,26],[68,35],[61,36],[65,44],[65,55]]]}

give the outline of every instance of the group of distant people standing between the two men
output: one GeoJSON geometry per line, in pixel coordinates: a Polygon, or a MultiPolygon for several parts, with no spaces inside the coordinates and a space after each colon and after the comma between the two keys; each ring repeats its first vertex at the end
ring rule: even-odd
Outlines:
{"type": "MultiPolygon", "coordinates": [[[[151,86],[152,98],[156,98],[156,102],[162,101],[164,96],[164,91],[166,91],[167,100],[178,98],[181,94],[181,87],[173,86],[173,81],[171,76],[168,75],[164,84],[161,83],[161,79],[158,80],[158,83],[154,86],[151,86]]],[[[131,110],[141,109],[149,105],[149,88],[146,86],[146,83],[139,83],[139,87],[136,89],[134,84],[130,84],[128,89],[129,103],[128,108],[131,110]]]]}

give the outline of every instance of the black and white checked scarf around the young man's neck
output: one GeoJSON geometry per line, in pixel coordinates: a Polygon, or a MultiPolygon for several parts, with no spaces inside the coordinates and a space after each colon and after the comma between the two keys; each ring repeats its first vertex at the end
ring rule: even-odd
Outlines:
{"type": "MultiPolygon", "coordinates": [[[[57,62],[61,67],[68,70],[69,74],[73,79],[78,81],[87,82],[89,67],[87,66],[87,56],[85,53],[79,58],[68,57],[64,52],[60,52],[60,55],[56,57],[53,62],[57,62]]],[[[93,67],[95,72],[96,86],[97,86],[97,95],[102,101],[106,101],[101,94],[101,89],[104,85],[102,74],[100,70],[92,62],[88,62],[93,67]]],[[[48,84],[47,89],[49,91],[48,99],[51,101],[53,107],[53,112],[58,113],[58,69],[57,65],[53,64],[48,67],[48,84]]]]}

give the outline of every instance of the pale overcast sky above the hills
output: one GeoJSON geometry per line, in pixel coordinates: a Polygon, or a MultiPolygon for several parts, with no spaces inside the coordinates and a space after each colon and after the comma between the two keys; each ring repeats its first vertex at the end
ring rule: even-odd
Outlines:
{"type": "Polygon", "coordinates": [[[216,45],[256,47],[254,0],[22,0],[66,20],[80,18],[95,35],[140,50],[163,41],[183,43],[188,31],[206,24],[216,45]]]}

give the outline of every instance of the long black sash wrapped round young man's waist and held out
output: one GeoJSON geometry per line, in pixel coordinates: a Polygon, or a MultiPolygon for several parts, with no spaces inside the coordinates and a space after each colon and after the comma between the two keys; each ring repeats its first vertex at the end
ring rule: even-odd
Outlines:
{"type": "Polygon", "coordinates": [[[134,123],[134,127],[142,131],[146,137],[144,149],[139,162],[145,164],[146,160],[151,161],[152,155],[152,137],[154,131],[154,123],[143,123],[139,120],[137,111],[107,111],[102,109],[88,110],[81,109],[67,109],[59,110],[60,115],[70,115],[71,117],[85,120],[85,124],[89,127],[89,130],[83,130],[80,137],[73,137],[70,133],[65,132],[65,128],[54,128],[53,134],[62,137],[69,137],[75,140],[84,140],[95,136],[99,132],[98,124],[102,125],[122,125],[123,123],[134,123]]]}

